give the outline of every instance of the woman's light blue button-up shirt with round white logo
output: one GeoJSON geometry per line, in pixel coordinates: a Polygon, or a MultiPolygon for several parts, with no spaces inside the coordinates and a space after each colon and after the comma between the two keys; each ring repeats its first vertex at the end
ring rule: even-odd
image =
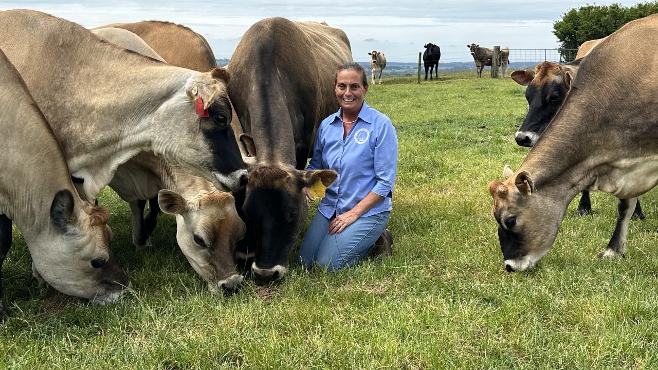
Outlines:
{"type": "Polygon", "coordinates": [[[388,117],[363,102],[345,140],[341,109],[322,120],[308,171],[332,169],[338,178],[326,189],[318,211],[330,219],[355,207],[369,192],[384,197],[361,217],[391,210],[397,173],[397,134],[388,117]]]}

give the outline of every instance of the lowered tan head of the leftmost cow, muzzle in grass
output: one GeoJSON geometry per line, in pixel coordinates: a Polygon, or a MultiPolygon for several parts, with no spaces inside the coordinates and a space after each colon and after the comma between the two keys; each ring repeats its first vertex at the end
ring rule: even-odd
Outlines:
{"type": "Polygon", "coordinates": [[[53,288],[91,302],[115,302],[130,280],[109,249],[109,212],[70,190],[55,194],[50,228],[28,241],[34,269],[53,288]]]}

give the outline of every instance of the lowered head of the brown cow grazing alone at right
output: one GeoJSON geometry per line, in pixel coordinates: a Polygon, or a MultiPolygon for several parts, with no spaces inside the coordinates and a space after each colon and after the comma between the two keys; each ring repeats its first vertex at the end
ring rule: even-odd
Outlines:
{"type": "MultiPolygon", "coordinates": [[[[504,182],[493,181],[493,217],[498,223],[505,269],[522,272],[536,265],[551,250],[562,223],[567,203],[541,194],[528,171],[503,171],[504,182]]],[[[569,199],[570,200],[570,199],[569,199]]]]}

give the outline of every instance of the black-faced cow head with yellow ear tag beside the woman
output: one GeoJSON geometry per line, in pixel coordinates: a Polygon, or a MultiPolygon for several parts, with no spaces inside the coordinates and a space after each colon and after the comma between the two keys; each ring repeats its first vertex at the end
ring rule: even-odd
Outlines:
{"type": "Polygon", "coordinates": [[[301,188],[318,180],[329,186],[336,177],[331,170],[299,171],[260,162],[249,166],[242,211],[254,234],[255,246],[247,253],[254,253],[251,269],[255,277],[266,282],[286,274],[290,250],[306,220],[306,198],[301,188]]]}

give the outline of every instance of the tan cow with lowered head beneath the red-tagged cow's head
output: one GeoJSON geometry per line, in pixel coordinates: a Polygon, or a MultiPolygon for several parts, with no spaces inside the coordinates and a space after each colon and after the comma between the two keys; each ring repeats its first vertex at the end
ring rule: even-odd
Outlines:
{"type": "Polygon", "coordinates": [[[231,194],[217,191],[211,182],[152,153],[139,153],[120,165],[110,186],[130,203],[133,244],[138,248],[147,244],[155,227],[145,230],[140,222],[143,203],[156,198],[159,209],[176,216],[178,246],[211,292],[240,287],[242,276],[236,273],[235,252],[246,228],[231,194]]]}

